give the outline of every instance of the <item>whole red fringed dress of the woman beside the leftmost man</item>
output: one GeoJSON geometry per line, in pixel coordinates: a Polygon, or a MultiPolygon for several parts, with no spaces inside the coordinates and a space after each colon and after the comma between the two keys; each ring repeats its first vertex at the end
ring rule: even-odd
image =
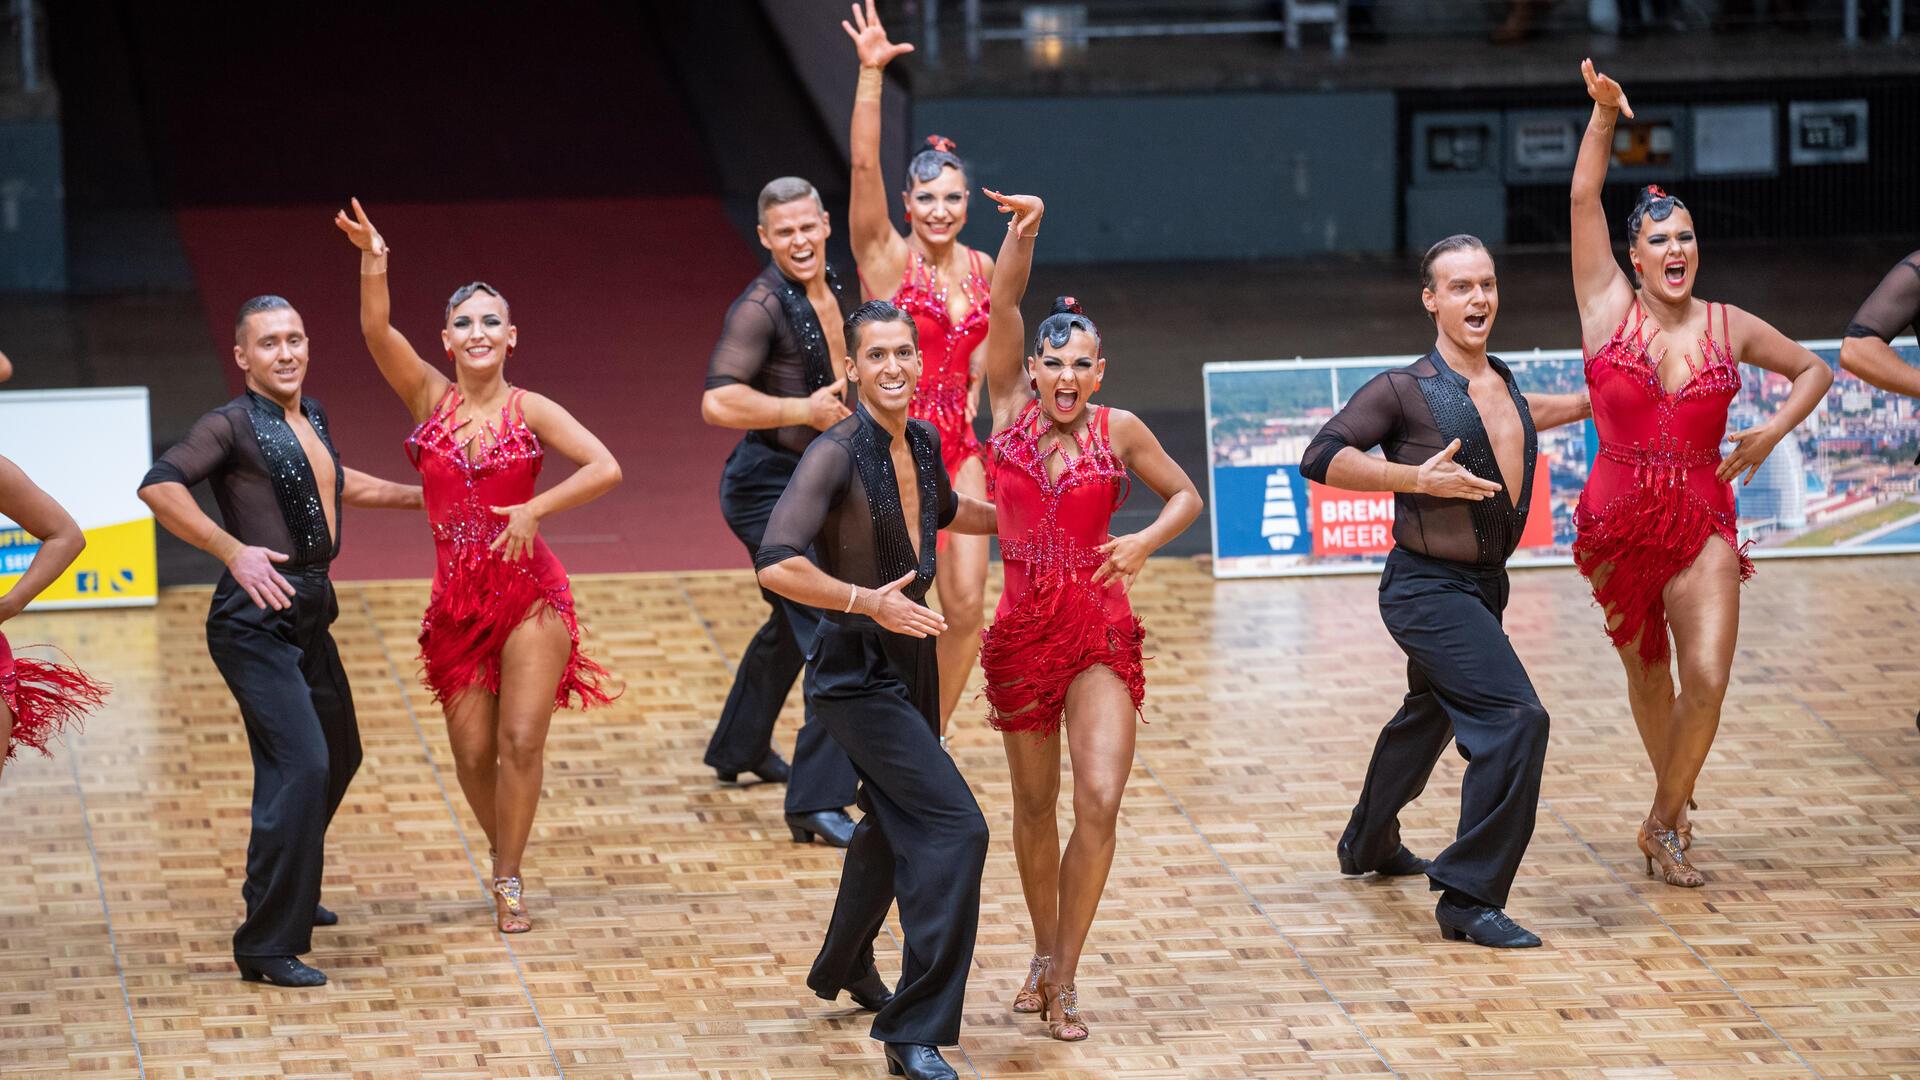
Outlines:
{"type": "Polygon", "coordinates": [[[540,438],[520,411],[524,390],[509,394],[499,425],[476,423],[484,432],[478,457],[449,430],[461,405],[457,386],[447,386],[434,415],[407,436],[407,457],[420,471],[426,519],[434,528],[434,596],[420,619],[420,665],[434,701],[453,701],[468,686],[499,694],[499,653],[507,636],[545,603],[561,621],[574,648],[566,671],[553,692],[553,705],[564,709],[611,701],[599,682],[607,671],[580,651],[580,623],[574,594],[545,540],[534,538],[534,552],[507,561],[488,546],[507,527],[495,505],[518,505],[534,498],[543,457],[540,438]]]}

